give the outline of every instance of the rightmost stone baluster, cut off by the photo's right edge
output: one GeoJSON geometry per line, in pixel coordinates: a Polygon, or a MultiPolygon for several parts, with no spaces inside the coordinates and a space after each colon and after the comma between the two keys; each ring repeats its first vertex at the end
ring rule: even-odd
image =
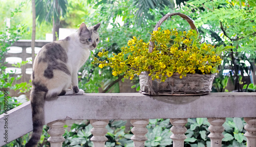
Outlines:
{"type": "Polygon", "coordinates": [[[255,147],[256,146],[256,117],[245,117],[245,122],[247,123],[244,126],[244,129],[247,131],[244,136],[247,138],[247,146],[255,147]]]}

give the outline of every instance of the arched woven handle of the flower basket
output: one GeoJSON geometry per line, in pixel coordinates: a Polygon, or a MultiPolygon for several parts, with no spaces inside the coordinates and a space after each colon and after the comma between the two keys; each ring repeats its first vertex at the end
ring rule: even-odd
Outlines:
{"type": "MultiPolygon", "coordinates": [[[[158,27],[161,26],[161,24],[163,23],[163,21],[165,21],[167,18],[172,17],[172,16],[174,16],[174,15],[179,15],[179,16],[182,17],[183,19],[187,20],[187,22],[188,22],[189,25],[190,25],[190,28],[197,31],[197,28],[196,28],[196,26],[195,26],[193,20],[192,20],[191,18],[189,18],[187,15],[182,14],[182,13],[180,13],[180,12],[177,12],[177,13],[167,13],[166,15],[164,15],[164,16],[157,22],[154,31],[157,31],[157,30],[158,30],[158,27]]],[[[198,33],[198,31],[197,31],[197,33],[198,33]]],[[[154,46],[154,45],[155,45],[154,42],[151,42],[151,41],[150,41],[150,47],[148,47],[148,52],[149,52],[149,53],[152,53],[152,52],[153,52],[153,48],[154,48],[153,46],[154,46]]]]}

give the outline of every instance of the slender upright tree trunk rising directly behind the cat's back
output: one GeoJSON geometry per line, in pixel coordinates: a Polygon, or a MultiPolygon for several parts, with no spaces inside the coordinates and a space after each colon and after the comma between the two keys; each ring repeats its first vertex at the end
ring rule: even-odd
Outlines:
{"type": "Polygon", "coordinates": [[[33,21],[32,38],[31,38],[32,64],[34,63],[34,60],[35,60],[35,28],[36,28],[35,19],[36,19],[36,16],[35,16],[35,0],[32,0],[32,21],[33,21]]]}

